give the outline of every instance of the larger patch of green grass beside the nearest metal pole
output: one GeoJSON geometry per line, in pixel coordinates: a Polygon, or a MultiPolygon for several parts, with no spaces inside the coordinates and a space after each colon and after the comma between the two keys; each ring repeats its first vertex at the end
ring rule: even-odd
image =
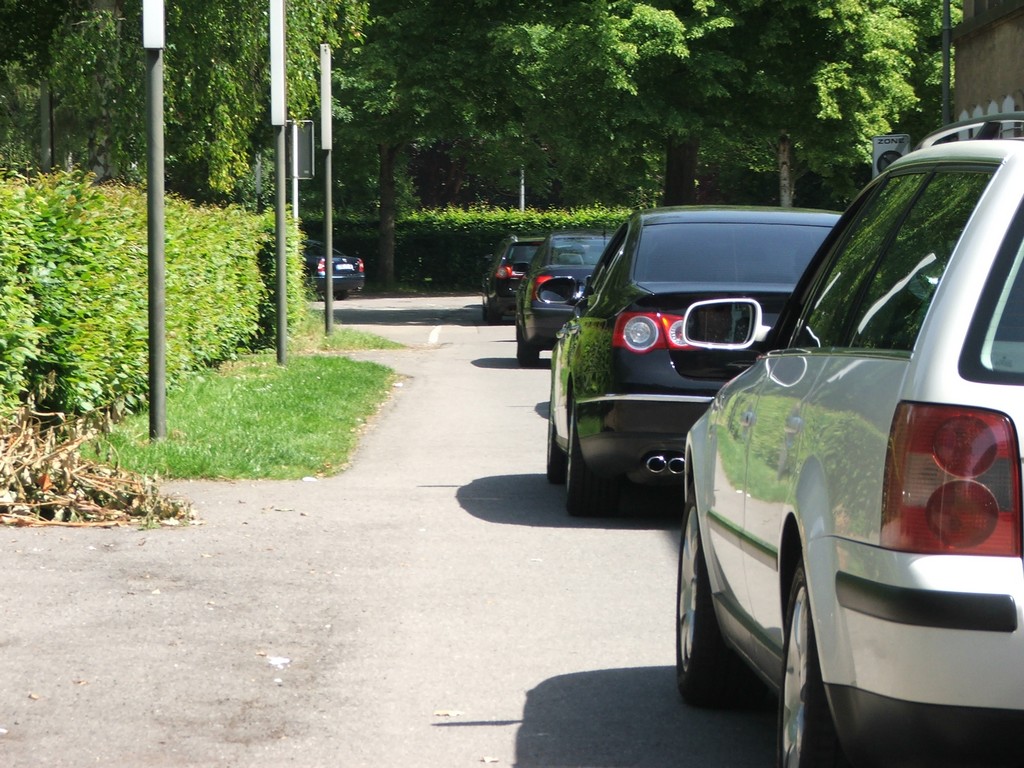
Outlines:
{"type": "Polygon", "coordinates": [[[150,441],[139,414],[118,424],[98,452],[163,477],[335,474],[393,380],[384,366],[338,355],[300,356],[288,366],[247,357],[169,394],[166,440],[150,441]]]}

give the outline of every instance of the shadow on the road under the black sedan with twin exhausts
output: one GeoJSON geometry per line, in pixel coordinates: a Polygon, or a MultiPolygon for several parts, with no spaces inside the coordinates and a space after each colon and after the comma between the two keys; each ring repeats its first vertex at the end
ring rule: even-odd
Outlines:
{"type": "Polygon", "coordinates": [[[626,483],[614,517],[571,517],[565,487],[543,474],[479,477],[461,486],[456,498],[474,517],[499,525],[559,528],[636,528],[678,531],[682,488],[626,483]]]}

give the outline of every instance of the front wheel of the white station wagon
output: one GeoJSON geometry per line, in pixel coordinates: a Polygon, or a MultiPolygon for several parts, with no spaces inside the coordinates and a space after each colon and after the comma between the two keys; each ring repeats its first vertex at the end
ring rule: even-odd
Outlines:
{"type": "Polygon", "coordinates": [[[686,703],[725,708],[748,705],[764,686],[722,638],[715,615],[708,561],[692,487],[683,507],[676,581],[676,683],[686,703]]]}

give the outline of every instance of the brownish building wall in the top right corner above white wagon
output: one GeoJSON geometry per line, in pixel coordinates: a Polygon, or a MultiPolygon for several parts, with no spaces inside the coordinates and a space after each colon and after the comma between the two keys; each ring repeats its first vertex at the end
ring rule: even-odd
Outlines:
{"type": "Polygon", "coordinates": [[[953,46],[956,120],[1024,111],[1024,0],[965,0],[953,46]]]}

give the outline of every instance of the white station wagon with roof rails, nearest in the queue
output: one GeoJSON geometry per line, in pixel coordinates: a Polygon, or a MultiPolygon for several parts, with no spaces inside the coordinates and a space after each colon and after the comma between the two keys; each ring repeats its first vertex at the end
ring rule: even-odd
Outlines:
{"type": "Polygon", "coordinates": [[[780,766],[1021,765],[1024,142],[894,162],[769,341],[687,439],[680,692],[749,667],[780,766]]]}

